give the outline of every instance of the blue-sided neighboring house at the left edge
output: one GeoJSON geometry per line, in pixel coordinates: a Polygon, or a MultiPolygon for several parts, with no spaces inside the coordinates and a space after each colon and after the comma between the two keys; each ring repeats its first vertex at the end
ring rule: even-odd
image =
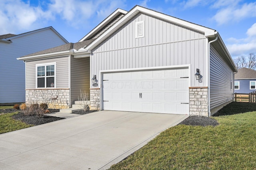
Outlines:
{"type": "Polygon", "coordinates": [[[66,43],[52,27],[0,35],[0,105],[25,102],[25,63],[17,57],[66,43]]]}

